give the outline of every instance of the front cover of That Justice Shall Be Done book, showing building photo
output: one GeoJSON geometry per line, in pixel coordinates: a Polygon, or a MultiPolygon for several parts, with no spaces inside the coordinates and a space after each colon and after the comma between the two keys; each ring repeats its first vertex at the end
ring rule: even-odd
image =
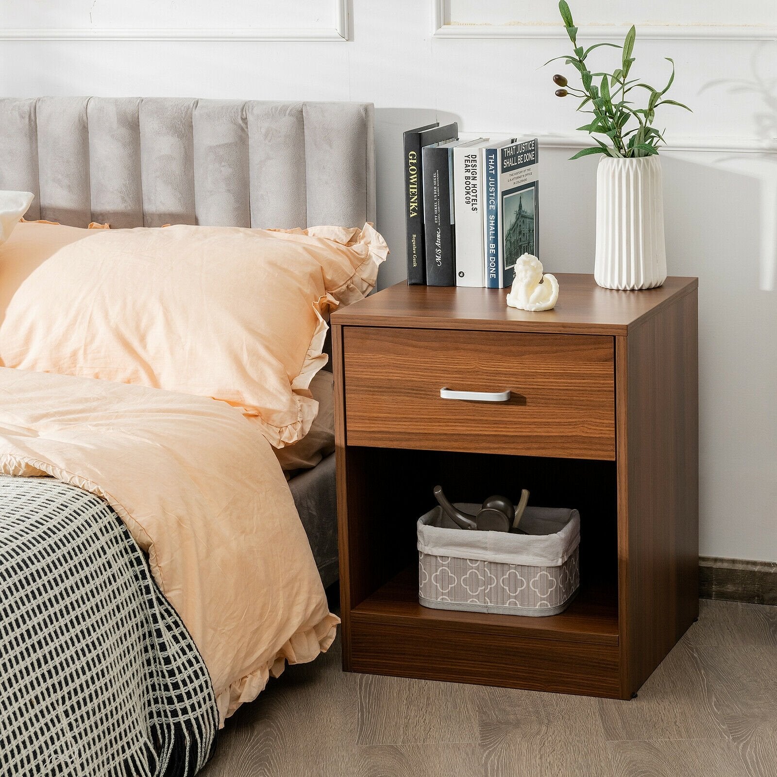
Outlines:
{"type": "Polygon", "coordinates": [[[524,253],[539,257],[539,149],[531,138],[499,150],[499,266],[497,288],[512,284],[524,253]]]}

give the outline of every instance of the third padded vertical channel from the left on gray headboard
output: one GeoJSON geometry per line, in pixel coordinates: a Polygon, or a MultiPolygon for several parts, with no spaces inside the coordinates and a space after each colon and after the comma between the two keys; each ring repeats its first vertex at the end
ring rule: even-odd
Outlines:
{"type": "Polygon", "coordinates": [[[92,221],[113,228],[143,224],[139,109],[139,97],[92,97],[86,106],[92,221]]]}

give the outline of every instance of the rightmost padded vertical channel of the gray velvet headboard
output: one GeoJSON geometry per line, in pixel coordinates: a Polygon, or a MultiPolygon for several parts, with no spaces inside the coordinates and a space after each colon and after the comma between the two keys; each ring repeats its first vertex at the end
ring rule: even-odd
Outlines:
{"type": "Polygon", "coordinates": [[[308,226],[367,221],[368,106],[305,103],[308,226]]]}

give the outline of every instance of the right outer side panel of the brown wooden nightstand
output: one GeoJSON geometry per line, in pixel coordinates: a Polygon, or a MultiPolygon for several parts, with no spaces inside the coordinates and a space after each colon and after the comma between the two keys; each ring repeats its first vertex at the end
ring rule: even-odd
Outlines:
{"type": "Polygon", "coordinates": [[[692,291],[615,340],[624,695],[699,612],[697,320],[692,291]]]}

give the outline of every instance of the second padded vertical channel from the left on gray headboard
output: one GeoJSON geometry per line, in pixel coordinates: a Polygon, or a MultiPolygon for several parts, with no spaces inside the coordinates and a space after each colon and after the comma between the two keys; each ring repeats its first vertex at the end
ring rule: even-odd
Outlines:
{"type": "Polygon", "coordinates": [[[85,227],[89,204],[89,130],[87,97],[38,100],[40,218],[85,227]]]}

